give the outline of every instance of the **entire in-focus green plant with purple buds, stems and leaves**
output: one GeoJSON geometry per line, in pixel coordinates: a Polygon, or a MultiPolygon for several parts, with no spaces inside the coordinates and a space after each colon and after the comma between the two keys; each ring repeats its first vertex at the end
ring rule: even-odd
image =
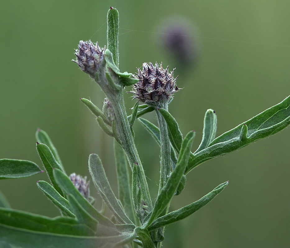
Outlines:
{"type": "MultiPolygon", "coordinates": [[[[258,139],[273,135],[290,123],[290,97],[266,109],[250,120],[215,138],[217,116],[208,109],[204,118],[203,137],[198,149],[191,152],[195,132],[184,137],[168,111],[177,87],[177,78],[168,67],[156,62],[144,63],[136,75],[118,69],[119,14],[108,11],[107,47],[91,41],[80,41],[74,62],[89,74],[106,95],[102,110],[90,100],[81,101],[96,116],[100,128],[114,138],[114,155],[118,179],[118,197],[113,192],[101,159],[89,156],[92,183],[104,202],[103,209],[94,207],[87,179],[75,173],[67,175],[58,152],[47,133],[36,132],[36,149],[49,182],[37,186],[60,210],[55,218],[8,208],[0,194],[0,242],[5,247],[161,247],[164,227],[182,220],[205,206],[227,185],[224,182],[193,203],[168,213],[170,201],[186,186],[186,174],[201,163],[232,152],[258,139]],[[123,94],[138,101],[128,116],[123,94]],[[139,101],[142,102],[139,105],[139,101]],[[158,126],[142,118],[154,111],[158,126]],[[134,142],[134,123],[138,120],[160,146],[160,181],[158,195],[150,196],[147,179],[134,142]],[[128,163],[128,164],[127,164],[128,163]],[[130,179],[129,168],[132,171],[130,179]],[[111,215],[104,214],[104,208],[111,215]]],[[[146,166],[146,165],[145,165],[146,166]]],[[[13,179],[44,172],[33,162],[1,159],[0,179],[13,179]]],[[[182,196],[178,196],[182,197],[182,196]]]]}

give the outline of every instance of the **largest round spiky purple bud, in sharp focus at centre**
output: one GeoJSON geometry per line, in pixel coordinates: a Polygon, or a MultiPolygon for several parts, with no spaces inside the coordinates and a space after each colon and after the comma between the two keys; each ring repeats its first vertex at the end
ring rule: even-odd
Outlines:
{"type": "MultiPolygon", "coordinates": [[[[173,69],[174,71],[174,69],[173,69]]],[[[139,80],[134,84],[131,93],[134,93],[134,98],[139,99],[141,102],[159,106],[160,103],[169,103],[173,98],[173,93],[178,91],[173,77],[173,71],[168,72],[162,68],[162,64],[144,63],[143,70],[138,69],[138,73],[134,76],[139,80]]]]}

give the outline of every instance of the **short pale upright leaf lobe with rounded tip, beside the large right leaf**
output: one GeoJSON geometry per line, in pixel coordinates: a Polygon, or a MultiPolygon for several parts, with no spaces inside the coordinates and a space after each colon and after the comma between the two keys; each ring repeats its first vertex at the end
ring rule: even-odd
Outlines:
{"type": "Polygon", "coordinates": [[[203,122],[202,140],[199,147],[193,154],[198,153],[199,151],[209,146],[209,143],[212,142],[215,138],[216,130],[217,130],[217,116],[214,110],[208,109],[205,112],[205,119],[203,122]]]}

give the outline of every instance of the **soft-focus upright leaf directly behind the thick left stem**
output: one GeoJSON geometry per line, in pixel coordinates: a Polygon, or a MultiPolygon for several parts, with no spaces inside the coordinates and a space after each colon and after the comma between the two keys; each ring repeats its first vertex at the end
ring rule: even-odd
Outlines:
{"type": "Polygon", "coordinates": [[[119,199],[123,205],[125,213],[134,223],[136,223],[136,215],[132,202],[131,182],[127,165],[126,155],[123,148],[114,140],[114,154],[117,170],[118,193],[119,199]]]}

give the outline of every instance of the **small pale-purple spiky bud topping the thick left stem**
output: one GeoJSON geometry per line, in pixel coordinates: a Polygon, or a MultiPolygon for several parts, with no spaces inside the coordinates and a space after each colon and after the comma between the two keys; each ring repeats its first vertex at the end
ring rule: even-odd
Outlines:
{"type": "Polygon", "coordinates": [[[79,65],[83,72],[95,78],[104,60],[104,49],[101,49],[98,43],[94,44],[91,41],[80,41],[78,49],[75,51],[76,60],[73,61],[79,65]]]}

